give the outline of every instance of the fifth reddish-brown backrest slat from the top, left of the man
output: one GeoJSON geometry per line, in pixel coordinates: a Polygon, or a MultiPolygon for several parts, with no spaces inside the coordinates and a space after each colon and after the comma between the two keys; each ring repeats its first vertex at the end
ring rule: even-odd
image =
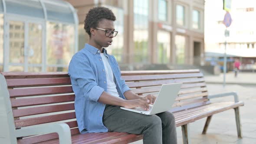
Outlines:
{"type": "Polygon", "coordinates": [[[13,117],[24,117],[29,115],[39,115],[51,112],[58,111],[69,111],[75,110],[74,103],[71,104],[63,104],[63,105],[49,105],[49,106],[41,106],[41,107],[33,107],[33,108],[22,108],[22,109],[14,109],[13,117]]]}

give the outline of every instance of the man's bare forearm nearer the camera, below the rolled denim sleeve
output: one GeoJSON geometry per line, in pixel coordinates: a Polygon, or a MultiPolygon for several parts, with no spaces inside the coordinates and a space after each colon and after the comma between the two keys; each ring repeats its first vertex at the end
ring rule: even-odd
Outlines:
{"type": "Polygon", "coordinates": [[[110,95],[105,91],[98,98],[98,102],[101,102],[101,103],[107,104],[107,105],[117,105],[117,106],[125,105],[125,99],[110,95]]]}

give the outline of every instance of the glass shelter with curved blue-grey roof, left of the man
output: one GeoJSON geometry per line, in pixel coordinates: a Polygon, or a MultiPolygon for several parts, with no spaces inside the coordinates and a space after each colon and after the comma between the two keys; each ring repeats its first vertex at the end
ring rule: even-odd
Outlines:
{"type": "Polygon", "coordinates": [[[0,0],[0,71],[67,71],[78,23],[62,0],[0,0]]]}

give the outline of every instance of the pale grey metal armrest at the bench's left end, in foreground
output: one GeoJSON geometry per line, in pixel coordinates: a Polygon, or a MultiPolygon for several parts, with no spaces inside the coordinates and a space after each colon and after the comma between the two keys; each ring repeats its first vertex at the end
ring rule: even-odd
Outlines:
{"type": "Polygon", "coordinates": [[[58,133],[59,144],[72,144],[71,132],[68,124],[49,124],[39,127],[22,128],[15,130],[16,137],[26,137],[37,134],[58,133]]]}

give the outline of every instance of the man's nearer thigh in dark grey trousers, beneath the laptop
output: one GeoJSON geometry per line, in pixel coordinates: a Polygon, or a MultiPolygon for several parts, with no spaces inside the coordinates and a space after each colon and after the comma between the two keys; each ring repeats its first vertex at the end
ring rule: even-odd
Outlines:
{"type": "MultiPolygon", "coordinates": [[[[132,134],[141,134],[142,131],[151,124],[161,124],[161,118],[170,118],[170,112],[164,112],[158,115],[142,115],[139,113],[126,111],[119,106],[106,105],[103,114],[103,124],[108,131],[128,132],[132,134]]],[[[165,120],[166,121],[166,120],[165,120]]],[[[168,121],[168,120],[167,120],[168,121]]]]}

